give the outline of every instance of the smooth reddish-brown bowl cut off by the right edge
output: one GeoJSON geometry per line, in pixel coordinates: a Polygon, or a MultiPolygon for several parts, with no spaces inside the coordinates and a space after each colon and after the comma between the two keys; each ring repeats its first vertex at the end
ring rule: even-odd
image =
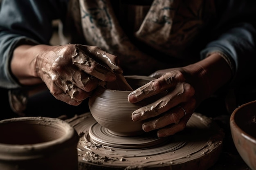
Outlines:
{"type": "Polygon", "coordinates": [[[234,110],[230,128],[239,155],[252,170],[256,170],[256,101],[234,110]]]}

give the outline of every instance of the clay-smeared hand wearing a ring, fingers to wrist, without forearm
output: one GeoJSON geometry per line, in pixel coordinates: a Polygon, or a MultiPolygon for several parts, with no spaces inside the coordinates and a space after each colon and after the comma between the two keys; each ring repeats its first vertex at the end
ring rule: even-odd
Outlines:
{"type": "MultiPolygon", "coordinates": [[[[199,66],[196,67],[195,65],[193,69],[195,72],[201,69],[199,66]]],[[[135,110],[132,113],[132,120],[144,120],[142,129],[145,132],[158,129],[158,137],[173,135],[185,128],[199,99],[202,98],[195,90],[201,88],[200,84],[205,85],[205,81],[200,79],[203,78],[200,75],[193,76],[186,68],[161,70],[151,76],[157,79],[130,93],[128,101],[136,103],[163,91],[167,93],[156,102],[135,110]]],[[[204,89],[200,90],[204,93],[204,89]]]]}

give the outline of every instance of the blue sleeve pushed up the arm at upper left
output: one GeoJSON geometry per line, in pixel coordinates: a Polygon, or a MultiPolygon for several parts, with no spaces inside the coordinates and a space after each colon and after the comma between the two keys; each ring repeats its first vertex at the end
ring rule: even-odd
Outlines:
{"type": "Polygon", "coordinates": [[[0,9],[0,87],[20,84],[10,71],[19,44],[49,44],[52,21],[65,20],[68,0],[2,0],[0,9]]]}

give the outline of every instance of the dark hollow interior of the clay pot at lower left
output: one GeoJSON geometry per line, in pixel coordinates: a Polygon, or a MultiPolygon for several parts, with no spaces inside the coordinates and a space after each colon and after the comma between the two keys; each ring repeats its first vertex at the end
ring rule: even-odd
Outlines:
{"type": "Polygon", "coordinates": [[[65,126],[61,127],[55,119],[38,117],[4,120],[0,129],[0,143],[11,145],[40,144],[59,139],[67,133],[65,126]]]}

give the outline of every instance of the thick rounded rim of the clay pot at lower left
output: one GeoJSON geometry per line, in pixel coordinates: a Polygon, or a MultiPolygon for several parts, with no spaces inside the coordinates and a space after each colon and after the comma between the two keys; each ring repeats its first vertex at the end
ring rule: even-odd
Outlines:
{"type": "MultiPolygon", "coordinates": [[[[36,144],[4,144],[0,143],[0,153],[6,154],[1,156],[0,159],[10,160],[16,159],[13,154],[17,155],[19,159],[22,159],[21,156],[24,155],[24,159],[28,159],[28,156],[35,158],[35,155],[38,154],[40,157],[40,153],[43,151],[44,153],[52,152],[53,150],[62,149],[63,145],[69,145],[70,143],[78,142],[79,137],[76,130],[67,122],[58,119],[58,118],[50,118],[50,117],[16,117],[11,119],[4,119],[0,121],[0,124],[8,124],[11,122],[28,122],[34,125],[41,126],[49,126],[51,128],[59,129],[63,132],[61,137],[57,137],[51,141],[45,141],[42,143],[36,144]],[[33,151],[33,152],[31,152],[33,151]]],[[[15,134],[13,134],[15,135],[15,134]]]]}

